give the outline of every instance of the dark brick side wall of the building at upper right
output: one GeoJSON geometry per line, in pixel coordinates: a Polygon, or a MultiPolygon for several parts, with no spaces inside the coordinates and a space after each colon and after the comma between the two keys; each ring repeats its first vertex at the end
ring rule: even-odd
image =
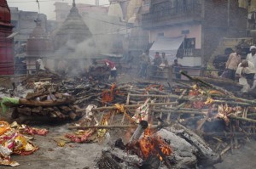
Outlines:
{"type": "Polygon", "coordinates": [[[230,22],[228,15],[228,0],[205,0],[205,17],[202,22],[204,63],[223,37],[245,36],[247,10],[238,8],[237,0],[230,0],[230,22]]]}

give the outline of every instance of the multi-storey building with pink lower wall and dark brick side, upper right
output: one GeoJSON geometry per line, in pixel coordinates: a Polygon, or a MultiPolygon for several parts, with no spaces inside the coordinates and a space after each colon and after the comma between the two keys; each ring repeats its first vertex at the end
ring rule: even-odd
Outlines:
{"type": "Polygon", "coordinates": [[[183,37],[177,48],[182,65],[207,63],[223,37],[247,35],[247,9],[237,0],[154,0],[143,14],[142,25],[149,41],[158,37],[183,37]]]}

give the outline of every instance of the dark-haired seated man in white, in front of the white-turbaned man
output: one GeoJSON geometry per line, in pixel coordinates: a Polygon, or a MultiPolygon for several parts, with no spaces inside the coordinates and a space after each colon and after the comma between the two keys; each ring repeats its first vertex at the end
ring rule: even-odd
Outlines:
{"type": "MultiPolygon", "coordinates": [[[[236,77],[239,78],[239,81],[241,82],[241,79],[245,78],[247,80],[247,84],[252,86],[254,75],[255,68],[253,63],[247,60],[242,60],[236,70],[236,77]]],[[[244,83],[242,85],[244,85],[244,83]]]]}

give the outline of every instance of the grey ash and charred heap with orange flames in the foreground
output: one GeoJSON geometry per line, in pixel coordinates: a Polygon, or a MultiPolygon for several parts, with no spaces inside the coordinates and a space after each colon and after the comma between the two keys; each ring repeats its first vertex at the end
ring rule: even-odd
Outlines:
{"type": "Polygon", "coordinates": [[[102,149],[96,167],[196,168],[212,166],[221,161],[220,155],[214,153],[195,132],[178,124],[164,126],[162,123],[148,127],[147,121],[141,121],[127,144],[119,138],[102,149]]]}

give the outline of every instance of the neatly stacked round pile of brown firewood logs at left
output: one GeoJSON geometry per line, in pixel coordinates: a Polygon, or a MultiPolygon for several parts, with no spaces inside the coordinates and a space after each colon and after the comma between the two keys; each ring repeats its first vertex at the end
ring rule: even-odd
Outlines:
{"type": "Polygon", "coordinates": [[[25,120],[75,120],[82,116],[79,106],[73,104],[75,99],[68,93],[41,90],[28,93],[26,99],[20,99],[20,104],[15,107],[13,117],[25,117],[25,120]]]}

